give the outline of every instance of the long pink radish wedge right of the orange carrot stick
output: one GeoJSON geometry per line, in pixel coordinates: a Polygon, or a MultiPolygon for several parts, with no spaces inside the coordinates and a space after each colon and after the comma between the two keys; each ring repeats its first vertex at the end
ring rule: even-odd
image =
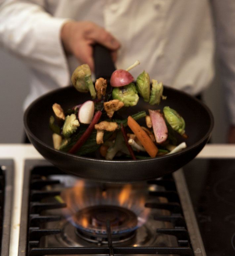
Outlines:
{"type": "Polygon", "coordinates": [[[153,126],[156,142],[161,144],[168,137],[168,129],[165,124],[163,115],[158,110],[149,109],[149,115],[153,126]]]}

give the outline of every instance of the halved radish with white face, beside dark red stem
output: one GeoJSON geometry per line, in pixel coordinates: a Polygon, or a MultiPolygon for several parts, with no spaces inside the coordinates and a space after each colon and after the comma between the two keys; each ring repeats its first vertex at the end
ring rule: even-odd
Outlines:
{"type": "Polygon", "coordinates": [[[82,124],[90,124],[95,111],[95,105],[92,100],[85,101],[78,111],[78,120],[82,124]]]}

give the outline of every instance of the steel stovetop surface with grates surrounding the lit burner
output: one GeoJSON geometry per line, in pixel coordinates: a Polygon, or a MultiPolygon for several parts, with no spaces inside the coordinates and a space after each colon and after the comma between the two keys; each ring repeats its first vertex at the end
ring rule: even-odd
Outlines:
{"type": "MultiPolygon", "coordinates": [[[[42,166],[40,164],[38,166],[32,160],[26,163],[19,255],[78,255],[84,254],[85,251],[86,254],[90,252],[89,254],[91,255],[147,255],[153,253],[161,255],[194,255],[175,182],[171,175],[147,183],[141,182],[131,185],[102,184],[73,178],[61,173],[61,171],[48,165],[45,161],[42,163],[42,166]],[[74,190],[73,185],[77,184],[77,182],[83,186],[75,186],[76,189],[74,190]],[[67,189],[65,189],[67,187],[66,184],[68,184],[67,189]],[[72,187],[71,190],[70,186],[72,187]],[[134,189],[131,188],[128,191],[129,186],[133,186],[134,189]],[[85,189],[86,187],[88,187],[88,190],[85,189]],[[127,190],[122,192],[124,191],[123,188],[127,188],[127,190]],[[95,193],[97,189],[100,193],[98,196],[95,193]],[[116,193],[113,196],[115,191],[119,191],[118,196],[116,193]],[[105,192],[104,197],[103,192],[105,192]],[[66,200],[65,195],[68,195],[68,200],[66,200]],[[127,199],[125,202],[122,200],[123,195],[127,199]],[[146,197],[143,202],[142,197],[146,197]],[[27,198],[29,198],[29,202],[27,198]],[[85,200],[81,203],[83,199],[85,200]],[[119,243],[119,240],[115,242],[113,233],[111,239],[107,225],[105,238],[101,238],[99,234],[98,240],[96,240],[97,238],[93,238],[93,236],[97,237],[94,234],[94,230],[90,232],[83,225],[82,230],[84,231],[85,228],[85,232],[83,232],[83,236],[80,239],[76,234],[78,227],[74,227],[73,223],[69,221],[71,216],[68,218],[66,214],[63,214],[63,211],[75,213],[79,211],[79,205],[75,204],[74,206],[73,202],[71,202],[73,200],[79,205],[82,204],[81,209],[86,209],[97,203],[98,205],[103,205],[106,209],[107,206],[110,204],[115,205],[118,201],[118,206],[129,208],[138,217],[140,225],[136,226],[137,232],[135,236],[133,236],[133,239],[123,242],[123,237],[126,233],[124,235],[121,233],[121,236],[118,236],[121,243],[119,243]],[[91,201],[89,202],[89,200],[91,201]],[[130,202],[132,203],[131,206],[129,205],[130,202]],[[142,205],[140,208],[138,203],[142,205]],[[146,221],[143,221],[146,210],[150,213],[146,221]],[[66,218],[64,218],[65,216],[66,218]],[[85,238],[84,233],[86,235],[85,238]],[[89,233],[89,239],[93,239],[92,242],[86,239],[87,233],[89,233]],[[110,239],[113,240],[113,244],[110,239]]],[[[99,219],[100,217],[98,216],[98,221],[99,219]]],[[[92,218],[92,223],[93,220],[94,218],[92,218]]],[[[81,229],[79,229],[79,232],[81,232],[81,229]]],[[[201,251],[200,247],[198,250],[201,251]]]]}

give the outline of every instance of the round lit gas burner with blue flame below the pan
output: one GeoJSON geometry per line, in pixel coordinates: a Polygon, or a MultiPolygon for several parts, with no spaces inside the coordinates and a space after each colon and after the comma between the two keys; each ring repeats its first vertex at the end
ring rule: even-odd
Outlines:
{"type": "Polygon", "coordinates": [[[119,243],[134,237],[137,228],[137,216],[130,210],[113,205],[96,205],[78,211],[72,222],[77,235],[89,242],[107,243],[107,225],[109,222],[112,241],[119,243]]]}

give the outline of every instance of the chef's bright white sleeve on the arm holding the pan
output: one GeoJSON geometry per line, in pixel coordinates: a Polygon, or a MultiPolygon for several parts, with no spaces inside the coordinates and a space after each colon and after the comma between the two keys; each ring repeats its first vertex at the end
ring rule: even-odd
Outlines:
{"type": "Polygon", "coordinates": [[[0,4],[0,44],[31,69],[65,86],[70,84],[70,72],[60,31],[68,19],[52,17],[45,11],[44,2],[18,0],[0,4]]]}

